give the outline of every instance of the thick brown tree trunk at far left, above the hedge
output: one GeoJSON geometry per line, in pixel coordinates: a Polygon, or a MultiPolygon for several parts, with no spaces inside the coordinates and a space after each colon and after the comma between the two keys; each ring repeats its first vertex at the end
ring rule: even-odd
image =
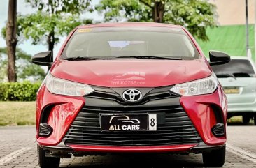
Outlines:
{"type": "Polygon", "coordinates": [[[8,55],[7,76],[8,82],[16,82],[16,45],[17,45],[17,0],[9,0],[8,21],[6,25],[6,45],[8,55]]]}

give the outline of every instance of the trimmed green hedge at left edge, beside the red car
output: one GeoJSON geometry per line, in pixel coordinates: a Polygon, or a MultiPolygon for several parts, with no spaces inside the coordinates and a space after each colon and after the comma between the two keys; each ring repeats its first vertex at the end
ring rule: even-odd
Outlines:
{"type": "Polygon", "coordinates": [[[27,81],[0,83],[0,100],[34,101],[40,85],[40,82],[31,83],[27,81]]]}

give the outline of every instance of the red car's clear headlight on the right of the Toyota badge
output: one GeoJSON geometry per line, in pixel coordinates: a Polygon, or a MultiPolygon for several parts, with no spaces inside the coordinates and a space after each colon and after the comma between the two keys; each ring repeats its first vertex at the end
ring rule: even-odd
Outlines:
{"type": "Polygon", "coordinates": [[[218,80],[213,73],[210,77],[204,79],[187,82],[184,84],[176,84],[170,90],[182,96],[194,96],[213,93],[218,87],[218,80]]]}

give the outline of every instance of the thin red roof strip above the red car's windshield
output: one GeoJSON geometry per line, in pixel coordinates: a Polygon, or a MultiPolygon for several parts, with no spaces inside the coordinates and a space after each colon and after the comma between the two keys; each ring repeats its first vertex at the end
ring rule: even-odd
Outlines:
{"type": "Polygon", "coordinates": [[[78,26],[78,29],[92,28],[92,27],[111,27],[111,26],[157,26],[157,27],[183,28],[183,26],[180,26],[180,25],[155,23],[155,22],[119,22],[119,23],[86,24],[84,26],[78,26]]]}

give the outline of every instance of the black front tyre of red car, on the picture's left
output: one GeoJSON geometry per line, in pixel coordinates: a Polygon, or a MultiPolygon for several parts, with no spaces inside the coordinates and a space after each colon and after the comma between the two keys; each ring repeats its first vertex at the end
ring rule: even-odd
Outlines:
{"type": "Polygon", "coordinates": [[[41,168],[57,168],[59,167],[60,158],[45,157],[45,150],[37,145],[38,165],[41,168]]]}

